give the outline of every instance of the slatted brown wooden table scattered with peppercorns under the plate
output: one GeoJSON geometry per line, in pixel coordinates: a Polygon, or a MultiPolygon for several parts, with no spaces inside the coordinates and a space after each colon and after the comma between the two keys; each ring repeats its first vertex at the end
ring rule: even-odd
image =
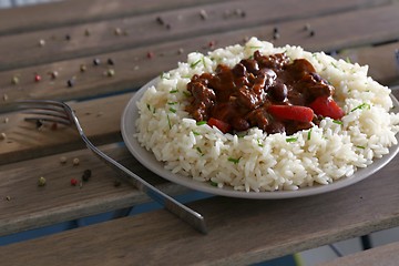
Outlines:
{"type": "MultiPolygon", "coordinates": [[[[191,192],[145,170],[121,143],[121,113],[135,90],[188,52],[243,43],[252,35],[368,64],[374,79],[395,88],[398,13],[399,2],[390,0],[68,0],[0,10],[0,133],[6,134],[0,141],[0,235],[150,202],[129,183],[115,186],[115,173],[84,149],[72,129],[38,130],[24,122],[14,112],[16,100],[70,101],[102,151],[167,194],[182,195],[191,192]],[[92,171],[90,181],[71,186],[84,170],[92,171]],[[38,186],[41,176],[45,186],[38,186]]],[[[2,246],[1,264],[263,262],[398,226],[398,171],[396,157],[371,177],[323,195],[214,196],[190,203],[205,216],[207,235],[158,209],[2,246]]],[[[398,245],[389,248],[399,250],[398,245]]]]}

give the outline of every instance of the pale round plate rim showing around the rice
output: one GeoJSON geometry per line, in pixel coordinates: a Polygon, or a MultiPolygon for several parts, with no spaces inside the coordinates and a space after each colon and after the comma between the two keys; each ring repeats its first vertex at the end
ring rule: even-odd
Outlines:
{"type": "MultiPolygon", "coordinates": [[[[133,98],[127,103],[121,122],[121,130],[123,140],[130,150],[130,152],[134,155],[134,157],[142,163],[145,167],[154,172],[155,174],[171,181],[177,183],[180,185],[202,191],[205,193],[211,193],[215,195],[222,196],[231,196],[231,197],[242,197],[242,198],[289,198],[289,197],[301,197],[316,195],[320,193],[331,192],[338,188],[346,187],[348,185],[355,184],[366,177],[372,175],[380,168],[382,168],[389,161],[391,161],[399,151],[399,145],[395,145],[389,150],[389,154],[385,155],[382,158],[376,158],[375,162],[366,168],[359,168],[355,172],[355,174],[350,177],[345,177],[339,181],[336,181],[329,185],[315,185],[311,187],[304,187],[297,191],[275,191],[275,192],[241,192],[234,191],[231,187],[218,188],[212,186],[209,183],[198,182],[191,180],[190,177],[173,174],[172,172],[164,168],[162,162],[156,161],[155,156],[152,152],[149,152],[144,147],[140,145],[137,139],[133,135],[135,134],[135,121],[139,117],[139,111],[136,106],[136,102],[141,99],[145,90],[147,90],[151,85],[155,85],[158,79],[154,79],[147,84],[145,84],[139,92],[136,92],[133,98]]],[[[399,102],[397,99],[392,96],[393,105],[396,109],[399,106],[399,102]]]]}

